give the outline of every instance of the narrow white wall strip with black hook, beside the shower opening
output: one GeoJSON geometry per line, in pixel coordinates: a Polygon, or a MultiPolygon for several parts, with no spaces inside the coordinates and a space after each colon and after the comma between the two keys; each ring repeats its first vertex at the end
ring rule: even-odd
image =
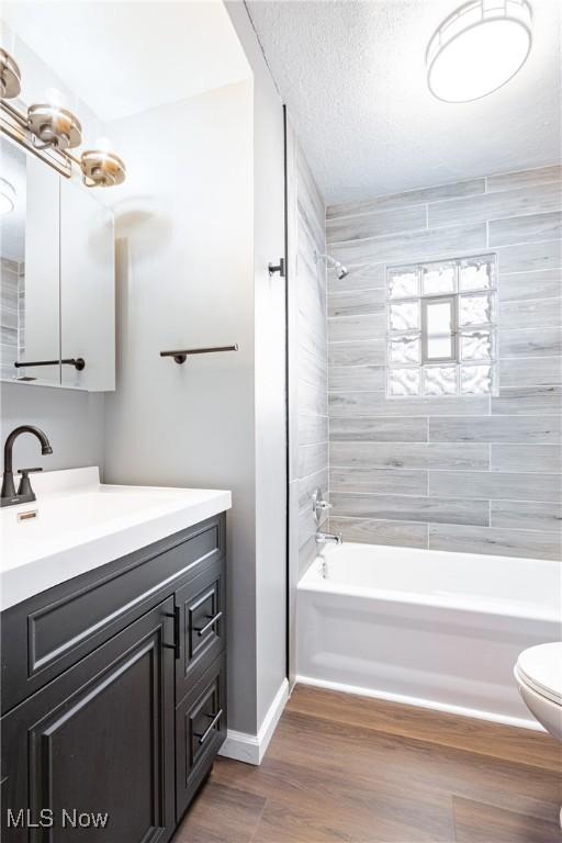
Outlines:
{"type": "Polygon", "coordinates": [[[254,75],[257,727],[286,672],[285,281],[282,102],[244,3],[226,9],[254,75]]]}

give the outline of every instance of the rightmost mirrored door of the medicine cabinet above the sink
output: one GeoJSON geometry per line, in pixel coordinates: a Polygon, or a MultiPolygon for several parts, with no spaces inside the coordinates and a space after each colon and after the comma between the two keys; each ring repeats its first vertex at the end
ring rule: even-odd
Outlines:
{"type": "Polygon", "coordinates": [[[63,386],[115,389],[113,214],[82,184],[60,180],[60,355],[63,386]]]}

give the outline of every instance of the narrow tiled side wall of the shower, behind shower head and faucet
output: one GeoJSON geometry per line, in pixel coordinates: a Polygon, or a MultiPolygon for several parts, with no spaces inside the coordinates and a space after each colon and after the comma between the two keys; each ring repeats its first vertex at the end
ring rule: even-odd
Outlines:
{"type": "Polygon", "coordinates": [[[329,483],[327,278],[315,261],[326,251],[326,209],[294,133],[288,140],[290,506],[302,572],[316,554],[311,496],[329,483]]]}

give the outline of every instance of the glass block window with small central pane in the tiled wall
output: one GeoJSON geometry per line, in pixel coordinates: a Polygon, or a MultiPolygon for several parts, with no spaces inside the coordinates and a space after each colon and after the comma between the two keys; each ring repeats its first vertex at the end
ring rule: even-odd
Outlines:
{"type": "Polygon", "coordinates": [[[386,395],[497,391],[495,255],[389,267],[386,395]]]}

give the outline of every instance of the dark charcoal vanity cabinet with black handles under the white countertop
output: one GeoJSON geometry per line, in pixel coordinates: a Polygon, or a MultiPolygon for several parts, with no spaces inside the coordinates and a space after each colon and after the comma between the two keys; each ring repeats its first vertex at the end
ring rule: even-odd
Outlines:
{"type": "Polygon", "coordinates": [[[222,515],[2,612],[4,843],[171,838],[226,735],[224,544],[222,515]]]}

